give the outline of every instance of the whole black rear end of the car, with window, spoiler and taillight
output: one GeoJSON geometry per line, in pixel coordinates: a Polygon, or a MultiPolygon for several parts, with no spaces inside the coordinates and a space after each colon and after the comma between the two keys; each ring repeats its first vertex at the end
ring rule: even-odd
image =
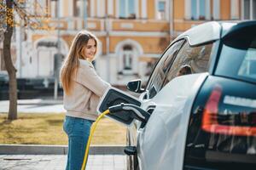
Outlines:
{"type": "Polygon", "coordinates": [[[223,31],[195,98],[183,169],[256,169],[256,21],[223,31]]]}

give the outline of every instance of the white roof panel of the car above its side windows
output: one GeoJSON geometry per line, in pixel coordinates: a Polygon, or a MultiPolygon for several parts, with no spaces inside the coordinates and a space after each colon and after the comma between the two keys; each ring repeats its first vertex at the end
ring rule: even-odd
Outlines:
{"type": "Polygon", "coordinates": [[[186,37],[189,41],[189,45],[196,46],[206,42],[212,42],[218,40],[221,37],[223,30],[230,30],[232,26],[235,26],[238,21],[210,21],[198,26],[190,28],[188,31],[184,31],[173,42],[186,37]]]}

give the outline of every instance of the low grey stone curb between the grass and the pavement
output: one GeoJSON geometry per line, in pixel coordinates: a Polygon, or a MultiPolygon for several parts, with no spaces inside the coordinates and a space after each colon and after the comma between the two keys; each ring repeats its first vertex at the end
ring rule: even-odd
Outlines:
{"type": "MultiPolygon", "coordinates": [[[[90,155],[125,155],[124,145],[92,145],[90,155]]],[[[67,145],[0,144],[0,155],[67,155],[67,145]]]]}

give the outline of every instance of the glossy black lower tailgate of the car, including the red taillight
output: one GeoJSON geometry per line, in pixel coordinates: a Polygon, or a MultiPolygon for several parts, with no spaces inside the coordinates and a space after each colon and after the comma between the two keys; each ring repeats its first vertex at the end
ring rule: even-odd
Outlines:
{"type": "Polygon", "coordinates": [[[255,169],[256,84],[207,77],[189,116],[184,170],[255,169]]]}

